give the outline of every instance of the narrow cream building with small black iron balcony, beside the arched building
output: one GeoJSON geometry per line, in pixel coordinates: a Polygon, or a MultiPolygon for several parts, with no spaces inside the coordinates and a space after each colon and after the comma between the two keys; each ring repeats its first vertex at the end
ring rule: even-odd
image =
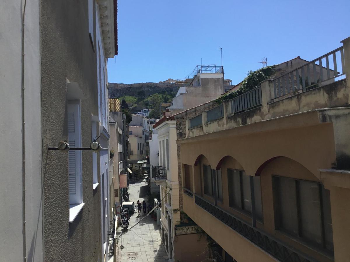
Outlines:
{"type": "Polygon", "coordinates": [[[153,126],[153,131],[156,135],[150,142],[151,190],[158,191],[154,184],[160,187],[162,243],[173,261],[201,261],[205,259],[205,240],[198,241],[197,234],[182,234],[187,225],[181,225],[180,221],[176,120],[161,118],[153,126]],[[155,151],[158,152],[157,156],[155,151]]]}

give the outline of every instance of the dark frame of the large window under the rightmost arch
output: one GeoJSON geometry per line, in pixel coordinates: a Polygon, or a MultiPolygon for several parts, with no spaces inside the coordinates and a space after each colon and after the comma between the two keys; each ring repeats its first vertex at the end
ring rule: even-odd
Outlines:
{"type": "MultiPolygon", "coordinates": [[[[279,183],[279,182],[278,182],[279,183]]],[[[325,236],[325,225],[324,225],[324,201],[325,196],[322,191],[322,183],[317,181],[310,181],[310,180],[303,180],[303,179],[295,179],[293,177],[286,177],[286,176],[279,176],[279,175],[272,175],[272,188],[273,188],[273,210],[274,210],[274,226],[275,230],[279,231],[283,234],[286,234],[287,236],[290,236],[291,238],[297,239],[297,241],[303,243],[304,245],[308,247],[313,247],[316,249],[319,249],[321,252],[325,252],[327,254],[334,254],[334,242],[332,242],[332,249],[326,248],[326,236],[325,236]],[[296,216],[297,216],[297,235],[294,235],[290,233],[288,230],[280,226],[280,201],[279,201],[279,193],[280,188],[278,185],[276,185],[276,182],[274,179],[291,179],[294,180],[295,183],[295,195],[296,195],[296,216]],[[309,183],[315,183],[318,187],[318,198],[320,202],[320,235],[322,239],[322,244],[318,244],[316,241],[311,241],[302,235],[302,219],[301,219],[301,199],[300,199],[300,182],[309,182],[309,183]]],[[[325,189],[327,190],[327,189],[325,189]]],[[[330,199],[329,199],[330,200],[330,199]]],[[[331,206],[330,206],[331,208],[331,206]]],[[[331,210],[330,210],[331,212],[331,210]]],[[[333,227],[332,227],[332,236],[333,236],[333,227]]]]}

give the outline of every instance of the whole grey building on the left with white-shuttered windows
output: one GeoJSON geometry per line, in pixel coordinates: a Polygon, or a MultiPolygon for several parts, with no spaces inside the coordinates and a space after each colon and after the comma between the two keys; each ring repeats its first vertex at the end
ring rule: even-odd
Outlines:
{"type": "Polygon", "coordinates": [[[0,157],[0,260],[107,261],[106,59],[117,54],[117,3],[2,3],[0,82],[16,88],[0,98],[0,131],[15,138],[2,140],[12,149],[0,157]]]}

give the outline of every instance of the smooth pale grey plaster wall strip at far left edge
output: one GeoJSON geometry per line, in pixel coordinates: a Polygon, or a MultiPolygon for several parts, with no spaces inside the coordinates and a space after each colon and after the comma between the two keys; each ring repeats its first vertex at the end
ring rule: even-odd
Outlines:
{"type": "MultiPolygon", "coordinates": [[[[41,66],[38,0],[27,1],[24,33],[25,243],[28,261],[43,261],[41,201],[41,66]]],[[[23,261],[21,10],[20,0],[0,8],[0,257],[23,261]]]]}

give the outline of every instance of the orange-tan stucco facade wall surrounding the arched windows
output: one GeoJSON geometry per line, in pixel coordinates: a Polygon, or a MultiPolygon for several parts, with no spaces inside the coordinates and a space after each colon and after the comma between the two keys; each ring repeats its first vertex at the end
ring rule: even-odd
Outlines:
{"type": "MultiPolygon", "coordinates": [[[[218,206],[235,217],[251,223],[250,216],[229,207],[228,188],[225,186],[228,184],[227,168],[245,170],[246,174],[252,176],[260,175],[264,222],[258,221],[257,227],[320,261],[330,261],[327,256],[314,252],[302,243],[274,230],[271,175],[321,181],[319,169],[331,168],[335,161],[333,125],[332,123],[322,123],[317,112],[271,120],[268,122],[268,126],[266,125],[267,123],[264,122],[255,123],[254,125],[241,126],[236,131],[224,130],[179,140],[181,163],[193,168],[194,192],[214,203],[214,199],[203,195],[202,165],[210,165],[213,169],[221,168],[224,199],[223,202],[218,201],[218,206]],[[268,129],[265,129],[267,127],[268,129]],[[241,132],[238,133],[239,129],[241,132]],[[279,158],[274,159],[275,157],[279,158]],[[271,159],[274,160],[271,161],[271,159]],[[269,160],[271,162],[267,163],[269,160]]],[[[203,222],[203,220],[210,220],[209,217],[212,216],[205,211],[202,214],[202,209],[193,204],[192,198],[187,195],[182,197],[184,212],[233,258],[237,261],[254,261],[253,257],[239,259],[238,251],[235,249],[237,245],[241,245],[240,247],[245,250],[245,254],[250,253],[250,243],[245,243],[246,240],[238,240],[237,236],[234,236],[235,232],[223,238],[223,234],[228,234],[224,231],[228,230],[224,227],[219,230],[217,224],[222,223],[212,221],[212,223],[216,223],[216,230],[212,230],[210,227],[213,227],[213,224],[203,222]],[[186,199],[191,203],[188,203],[186,199]],[[235,243],[235,248],[233,248],[226,243],[227,239],[236,239],[241,242],[235,243]]],[[[213,217],[213,219],[216,218],[213,217]]]]}

